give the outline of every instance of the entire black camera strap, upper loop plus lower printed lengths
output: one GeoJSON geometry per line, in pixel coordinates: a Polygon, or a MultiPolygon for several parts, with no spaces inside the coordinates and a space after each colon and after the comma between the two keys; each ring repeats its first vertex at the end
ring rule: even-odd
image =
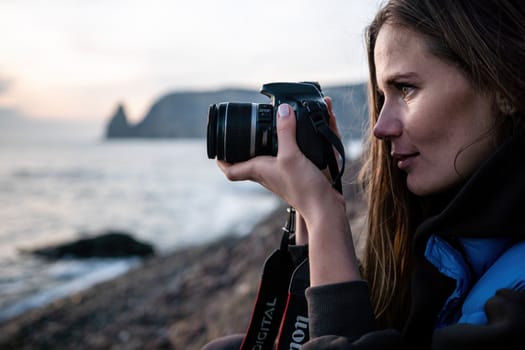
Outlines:
{"type": "MultiPolygon", "coordinates": [[[[328,169],[332,187],[342,193],[345,150],[339,137],[330,129],[326,105],[311,101],[303,101],[301,104],[307,109],[316,132],[332,146],[326,155],[328,169]],[[339,153],[340,165],[334,149],[339,153]]],[[[290,207],[288,222],[283,227],[281,246],[264,263],[241,350],[299,349],[309,339],[305,296],[310,285],[308,251],[307,247],[295,246],[290,249],[294,232],[295,210],[290,207]]]]}

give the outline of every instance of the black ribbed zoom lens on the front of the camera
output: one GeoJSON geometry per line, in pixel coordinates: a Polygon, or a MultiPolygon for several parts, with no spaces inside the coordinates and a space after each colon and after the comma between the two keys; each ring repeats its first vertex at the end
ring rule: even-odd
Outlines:
{"type": "Polygon", "coordinates": [[[224,102],[208,111],[208,158],[241,162],[258,155],[275,155],[277,140],[273,106],[224,102]]]}

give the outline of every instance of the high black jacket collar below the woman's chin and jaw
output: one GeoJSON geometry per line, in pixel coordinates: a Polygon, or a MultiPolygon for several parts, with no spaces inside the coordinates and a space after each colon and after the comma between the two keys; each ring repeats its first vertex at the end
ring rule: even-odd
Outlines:
{"type": "Polygon", "coordinates": [[[525,237],[525,136],[505,142],[441,213],[419,225],[415,249],[431,234],[445,237],[525,237]]]}

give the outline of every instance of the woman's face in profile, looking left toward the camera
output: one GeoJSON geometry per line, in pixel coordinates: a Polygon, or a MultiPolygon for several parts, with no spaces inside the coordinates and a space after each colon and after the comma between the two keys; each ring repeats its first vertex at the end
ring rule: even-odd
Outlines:
{"type": "Polygon", "coordinates": [[[459,68],[430,54],[423,36],[383,25],[374,61],[384,96],[374,135],[390,143],[412,193],[459,183],[494,151],[492,96],[476,92],[459,68]]]}

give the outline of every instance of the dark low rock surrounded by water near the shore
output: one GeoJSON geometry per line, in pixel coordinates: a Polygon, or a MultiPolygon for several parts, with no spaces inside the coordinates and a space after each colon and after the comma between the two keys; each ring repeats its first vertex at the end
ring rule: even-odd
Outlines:
{"type": "Polygon", "coordinates": [[[49,259],[64,257],[127,257],[149,256],[154,253],[150,244],[139,242],[126,233],[108,232],[97,237],[79,239],[72,243],[60,244],[31,251],[32,254],[49,259]]]}

